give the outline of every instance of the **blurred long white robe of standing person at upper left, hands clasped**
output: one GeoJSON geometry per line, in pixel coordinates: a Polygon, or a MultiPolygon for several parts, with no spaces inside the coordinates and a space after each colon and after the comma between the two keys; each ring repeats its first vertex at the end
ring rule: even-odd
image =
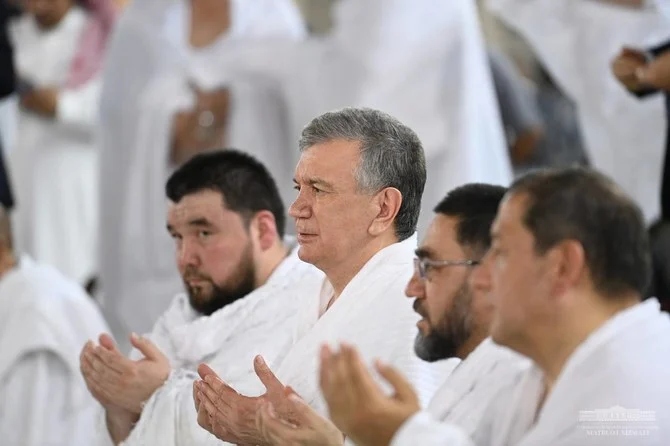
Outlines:
{"type": "MultiPolygon", "coordinates": [[[[18,76],[36,87],[63,88],[86,24],[79,7],[48,32],[28,14],[11,23],[18,76]]],[[[95,78],[62,89],[53,119],[20,109],[8,158],[17,248],[82,284],[97,270],[99,91],[95,78]]]]}

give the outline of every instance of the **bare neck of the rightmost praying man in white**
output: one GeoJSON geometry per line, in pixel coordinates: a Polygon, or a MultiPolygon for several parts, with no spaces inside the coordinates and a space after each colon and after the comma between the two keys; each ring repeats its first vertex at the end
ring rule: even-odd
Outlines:
{"type": "Polygon", "coordinates": [[[553,388],[565,364],[589,336],[616,314],[640,302],[640,296],[634,293],[616,300],[605,299],[601,296],[584,296],[581,300],[583,304],[559,323],[562,328],[527,355],[544,372],[547,391],[553,388]]]}

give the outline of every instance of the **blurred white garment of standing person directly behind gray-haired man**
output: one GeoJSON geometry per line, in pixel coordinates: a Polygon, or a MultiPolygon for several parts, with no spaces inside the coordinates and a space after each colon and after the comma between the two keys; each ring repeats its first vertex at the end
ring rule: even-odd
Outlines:
{"type": "MultiPolygon", "coordinates": [[[[292,140],[323,112],[377,108],[421,138],[428,206],[464,183],[508,184],[507,148],[474,1],[342,0],[334,7],[335,28],[323,39],[264,42],[226,55],[237,70],[275,77],[290,109],[292,140]]],[[[298,156],[295,150],[295,162],[298,156]]],[[[430,214],[422,212],[420,228],[430,214]]]]}

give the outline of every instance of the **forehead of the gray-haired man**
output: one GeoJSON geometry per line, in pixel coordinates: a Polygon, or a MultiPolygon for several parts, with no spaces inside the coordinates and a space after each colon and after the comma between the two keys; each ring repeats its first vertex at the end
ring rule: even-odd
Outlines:
{"type": "Polygon", "coordinates": [[[295,169],[296,180],[312,177],[327,180],[354,179],[360,161],[360,142],[333,139],[304,150],[295,169]]]}

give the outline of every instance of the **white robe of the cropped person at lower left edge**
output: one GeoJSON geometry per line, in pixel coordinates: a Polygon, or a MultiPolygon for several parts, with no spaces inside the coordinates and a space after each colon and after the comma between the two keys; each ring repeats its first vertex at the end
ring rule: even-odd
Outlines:
{"type": "Polygon", "coordinates": [[[72,280],[24,256],[0,279],[0,443],[90,446],[97,403],[79,353],[107,331],[72,280]]]}

